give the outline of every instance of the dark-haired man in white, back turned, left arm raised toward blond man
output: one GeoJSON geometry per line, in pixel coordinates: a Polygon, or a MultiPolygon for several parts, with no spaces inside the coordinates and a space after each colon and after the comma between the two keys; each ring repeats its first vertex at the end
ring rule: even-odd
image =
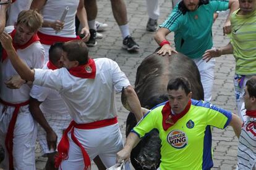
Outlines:
{"type": "MultiPolygon", "coordinates": [[[[82,41],[64,42],[61,61],[65,68],[30,70],[14,51],[11,37],[0,38],[21,78],[33,84],[56,89],[69,109],[71,118],[58,145],[56,166],[62,169],[87,169],[99,155],[107,168],[116,163],[122,149],[122,136],[117,123],[115,92],[127,95],[127,102],[137,121],[142,118],[140,102],[126,75],[111,59],[90,59],[82,41]]],[[[126,164],[129,169],[129,164],[126,164]]]]}

